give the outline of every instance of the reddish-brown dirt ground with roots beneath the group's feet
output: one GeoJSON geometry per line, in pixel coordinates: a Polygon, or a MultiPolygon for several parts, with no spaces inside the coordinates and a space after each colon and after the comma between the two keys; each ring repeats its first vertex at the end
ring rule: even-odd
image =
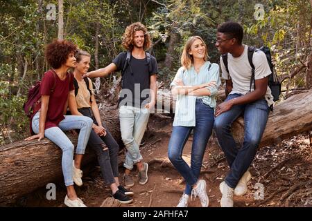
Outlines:
{"type": "MultiPolygon", "coordinates": [[[[168,141],[172,129],[172,119],[164,115],[151,115],[148,130],[141,145],[141,154],[149,162],[148,183],[136,182],[135,192],[129,207],[174,207],[180,200],[184,189],[184,180],[169,163],[167,157],[168,141]]],[[[183,157],[189,162],[193,137],[184,148],[183,157]]],[[[123,160],[123,155],[119,157],[123,160]]],[[[121,164],[120,164],[121,165],[121,164]]],[[[120,168],[119,178],[123,175],[120,168]]],[[[87,206],[101,206],[103,200],[110,197],[110,189],[105,186],[98,166],[84,169],[83,186],[76,186],[78,196],[87,206]],[[89,173],[86,171],[89,170],[89,173]]],[[[211,136],[202,164],[200,178],[207,182],[209,206],[219,207],[221,194],[220,182],[229,168],[218,147],[216,138],[211,136]]],[[[257,152],[250,167],[252,180],[248,192],[242,197],[234,196],[235,207],[245,206],[312,206],[312,147],[309,135],[302,134],[285,140],[279,145],[266,146],[257,152]]],[[[132,172],[135,180],[137,173],[132,172]]],[[[56,183],[56,200],[46,200],[46,189],[38,189],[19,199],[15,206],[64,206],[66,195],[62,180],[56,183]]],[[[189,202],[189,206],[201,206],[198,198],[189,202]]]]}

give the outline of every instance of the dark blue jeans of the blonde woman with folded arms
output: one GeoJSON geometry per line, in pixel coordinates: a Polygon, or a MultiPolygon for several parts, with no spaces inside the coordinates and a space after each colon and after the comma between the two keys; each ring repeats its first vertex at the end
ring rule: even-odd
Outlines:
{"type": "Polygon", "coordinates": [[[196,99],[195,115],[196,126],[173,126],[168,144],[168,158],[187,182],[184,193],[188,195],[191,194],[192,186],[196,184],[200,175],[202,158],[214,127],[214,108],[204,104],[202,99],[196,99]],[[193,144],[190,167],[183,160],[182,152],[192,130],[193,144]]]}

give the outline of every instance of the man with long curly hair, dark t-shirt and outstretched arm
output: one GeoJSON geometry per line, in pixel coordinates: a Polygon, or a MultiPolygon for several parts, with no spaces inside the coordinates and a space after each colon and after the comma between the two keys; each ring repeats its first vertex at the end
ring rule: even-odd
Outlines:
{"type": "Polygon", "coordinates": [[[135,185],[130,171],[136,164],[139,171],[139,184],[148,182],[148,164],[143,162],[139,151],[150,110],[156,102],[157,62],[146,49],[150,47],[150,35],[139,22],[125,28],[122,45],[127,50],[121,52],[110,65],[87,73],[86,77],[106,77],[121,70],[122,83],[119,97],[119,119],[121,138],[127,148],[125,155],[125,186],[135,185]]]}

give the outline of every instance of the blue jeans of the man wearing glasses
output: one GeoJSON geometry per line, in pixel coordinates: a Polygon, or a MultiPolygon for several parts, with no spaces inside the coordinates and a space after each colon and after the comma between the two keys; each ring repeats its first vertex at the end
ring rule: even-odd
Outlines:
{"type": "MultiPolygon", "coordinates": [[[[242,95],[229,95],[225,101],[240,96],[242,95]]],[[[268,113],[269,107],[266,99],[259,99],[250,104],[234,105],[229,111],[216,117],[214,129],[230,167],[229,174],[225,177],[225,182],[231,188],[236,187],[245,171],[252,164],[252,160],[254,160],[261,137],[266,128],[268,113]],[[230,130],[232,123],[241,114],[243,114],[245,122],[245,135],[243,146],[239,148],[236,146],[230,130]]]]}

